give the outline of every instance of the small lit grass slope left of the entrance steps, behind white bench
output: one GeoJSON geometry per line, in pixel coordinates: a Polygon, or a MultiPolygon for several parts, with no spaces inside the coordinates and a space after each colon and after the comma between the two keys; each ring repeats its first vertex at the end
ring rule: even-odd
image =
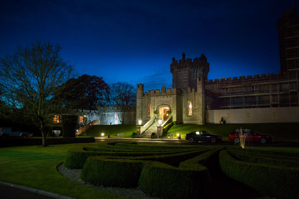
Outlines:
{"type": "MultiPolygon", "coordinates": [[[[88,137],[117,137],[118,133],[124,133],[124,137],[131,137],[133,132],[137,132],[137,126],[132,124],[116,124],[116,125],[95,125],[88,131],[86,136],[88,137]],[[104,133],[104,136],[101,134],[104,133]]],[[[84,136],[84,133],[81,134],[84,136]]]]}

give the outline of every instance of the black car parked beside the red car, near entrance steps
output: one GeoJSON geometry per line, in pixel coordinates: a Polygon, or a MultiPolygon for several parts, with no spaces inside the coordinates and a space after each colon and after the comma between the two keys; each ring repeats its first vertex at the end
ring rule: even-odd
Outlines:
{"type": "Polygon", "coordinates": [[[191,133],[186,134],[186,140],[190,142],[193,141],[208,141],[208,142],[216,142],[222,141],[222,137],[220,135],[211,134],[207,131],[193,131],[191,133]]]}

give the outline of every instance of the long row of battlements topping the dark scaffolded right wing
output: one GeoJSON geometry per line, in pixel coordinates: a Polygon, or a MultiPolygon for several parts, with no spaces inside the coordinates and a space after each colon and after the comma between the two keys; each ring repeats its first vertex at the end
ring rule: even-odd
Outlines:
{"type": "Polygon", "coordinates": [[[227,78],[220,78],[219,79],[210,79],[210,80],[205,80],[206,85],[213,85],[213,84],[217,84],[217,83],[225,83],[225,82],[234,82],[234,83],[242,83],[242,82],[246,82],[246,81],[275,81],[275,80],[282,80],[285,79],[287,77],[287,73],[286,72],[276,72],[275,74],[273,73],[268,73],[267,74],[261,74],[261,75],[247,75],[246,76],[239,76],[238,77],[227,77],[227,78]]]}

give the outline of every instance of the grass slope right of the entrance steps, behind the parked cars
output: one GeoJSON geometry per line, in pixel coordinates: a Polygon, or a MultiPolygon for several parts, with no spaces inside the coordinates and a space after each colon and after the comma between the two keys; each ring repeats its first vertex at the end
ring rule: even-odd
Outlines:
{"type": "Polygon", "coordinates": [[[299,141],[299,123],[253,123],[253,124],[178,124],[173,125],[163,138],[167,138],[167,134],[173,133],[176,137],[180,133],[182,139],[186,133],[196,130],[205,130],[212,134],[218,134],[223,137],[224,141],[228,141],[229,134],[237,128],[252,129],[262,134],[274,136],[275,141],[299,141]]]}

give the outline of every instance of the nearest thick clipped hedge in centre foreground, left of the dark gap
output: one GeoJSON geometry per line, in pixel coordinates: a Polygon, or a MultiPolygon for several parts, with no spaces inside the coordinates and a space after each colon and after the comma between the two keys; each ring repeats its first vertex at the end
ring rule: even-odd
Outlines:
{"type": "Polygon", "coordinates": [[[95,185],[139,187],[145,193],[162,198],[201,198],[207,194],[211,176],[199,162],[205,162],[219,150],[201,148],[177,154],[138,157],[89,156],[81,179],[95,185]],[[177,166],[171,166],[173,164],[177,166]],[[179,187],[178,182],[181,184],[179,187]]]}

